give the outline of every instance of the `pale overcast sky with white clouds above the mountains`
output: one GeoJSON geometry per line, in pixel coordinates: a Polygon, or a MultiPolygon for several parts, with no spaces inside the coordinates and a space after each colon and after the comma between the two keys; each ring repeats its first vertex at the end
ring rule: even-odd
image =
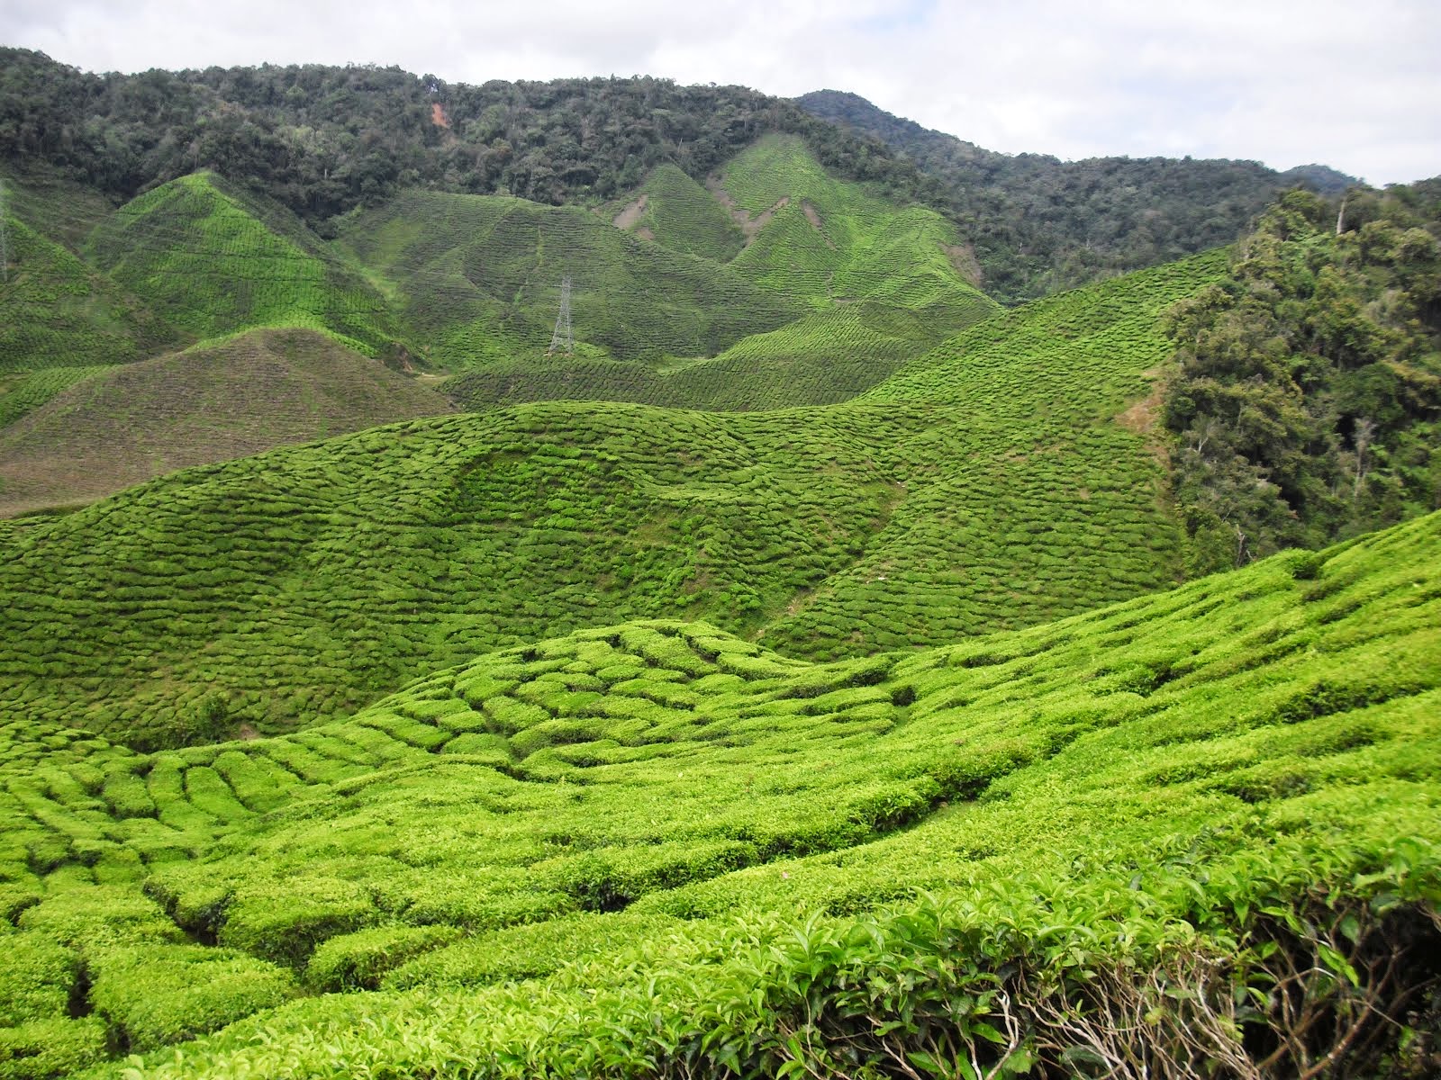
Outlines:
{"type": "Polygon", "coordinates": [[[0,0],[88,71],[396,63],[846,89],[990,150],[1441,174],[1441,0],[0,0]]]}

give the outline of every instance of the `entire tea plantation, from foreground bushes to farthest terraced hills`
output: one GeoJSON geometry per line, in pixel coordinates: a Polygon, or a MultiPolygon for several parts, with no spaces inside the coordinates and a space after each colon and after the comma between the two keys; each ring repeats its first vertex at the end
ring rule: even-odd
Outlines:
{"type": "Polygon", "coordinates": [[[1441,1073],[1441,511],[1183,583],[1228,252],[13,190],[0,1079],[1441,1073]]]}

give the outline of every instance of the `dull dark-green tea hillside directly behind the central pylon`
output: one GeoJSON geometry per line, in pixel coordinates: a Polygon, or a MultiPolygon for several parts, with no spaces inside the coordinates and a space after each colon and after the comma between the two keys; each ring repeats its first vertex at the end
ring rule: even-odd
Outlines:
{"type": "Polygon", "coordinates": [[[391,282],[427,357],[457,370],[543,354],[566,275],[582,356],[710,356],[800,314],[719,264],[574,206],[411,192],[346,219],[340,242],[391,282]]]}

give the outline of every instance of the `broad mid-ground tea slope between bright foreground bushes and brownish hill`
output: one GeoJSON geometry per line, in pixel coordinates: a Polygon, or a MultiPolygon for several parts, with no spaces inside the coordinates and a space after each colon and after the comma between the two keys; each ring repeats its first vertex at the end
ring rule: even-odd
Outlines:
{"type": "Polygon", "coordinates": [[[0,660],[23,675],[0,707],[171,744],[202,713],[304,726],[415,670],[634,618],[824,660],[1164,588],[1163,468],[1115,418],[1169,356],[1159,314],[1223,266],[1000,315],[960,338],[974,367],[948,346],[896,400],[529,405],[161,477],[0,566],[0,660]],[[987,334],[1017,341],[1006,363],[987,334]],[[911,399],[927,372],[934,400],[911,399]]]}

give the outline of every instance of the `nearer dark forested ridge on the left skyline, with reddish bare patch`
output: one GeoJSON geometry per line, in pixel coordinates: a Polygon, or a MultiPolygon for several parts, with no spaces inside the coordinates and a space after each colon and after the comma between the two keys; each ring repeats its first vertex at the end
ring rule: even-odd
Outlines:
{"type": "Polygon", "coordinates": [[[882,144],[742,86],[323,65],[92,75],[0,49],[0,160],[43,160],[114,199],[213,168],[313,225],[415,186],[604,202],[664,161],[703,177],[767,131],[801,135],[846,179],[925,187],[882,144]]]}

